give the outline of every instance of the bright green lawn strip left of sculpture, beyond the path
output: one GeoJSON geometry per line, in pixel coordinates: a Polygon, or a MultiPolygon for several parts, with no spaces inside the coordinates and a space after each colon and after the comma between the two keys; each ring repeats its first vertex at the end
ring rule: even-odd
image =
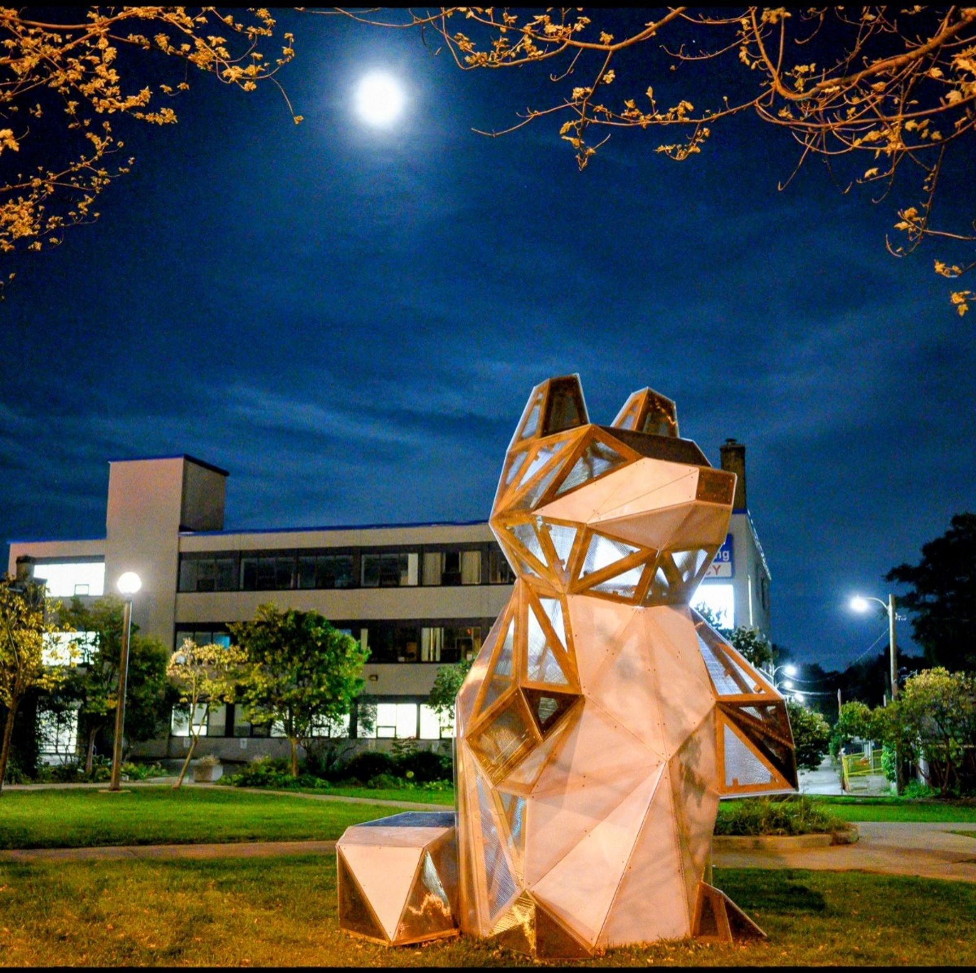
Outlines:
{"type": "Polygon", "coordinates": [[[377,804],[230,787],[146,786],[119,794],[95,788],[6,790],[0,796],[0,848],[327,840],[348,825],[395,813],[377,804]]]}

